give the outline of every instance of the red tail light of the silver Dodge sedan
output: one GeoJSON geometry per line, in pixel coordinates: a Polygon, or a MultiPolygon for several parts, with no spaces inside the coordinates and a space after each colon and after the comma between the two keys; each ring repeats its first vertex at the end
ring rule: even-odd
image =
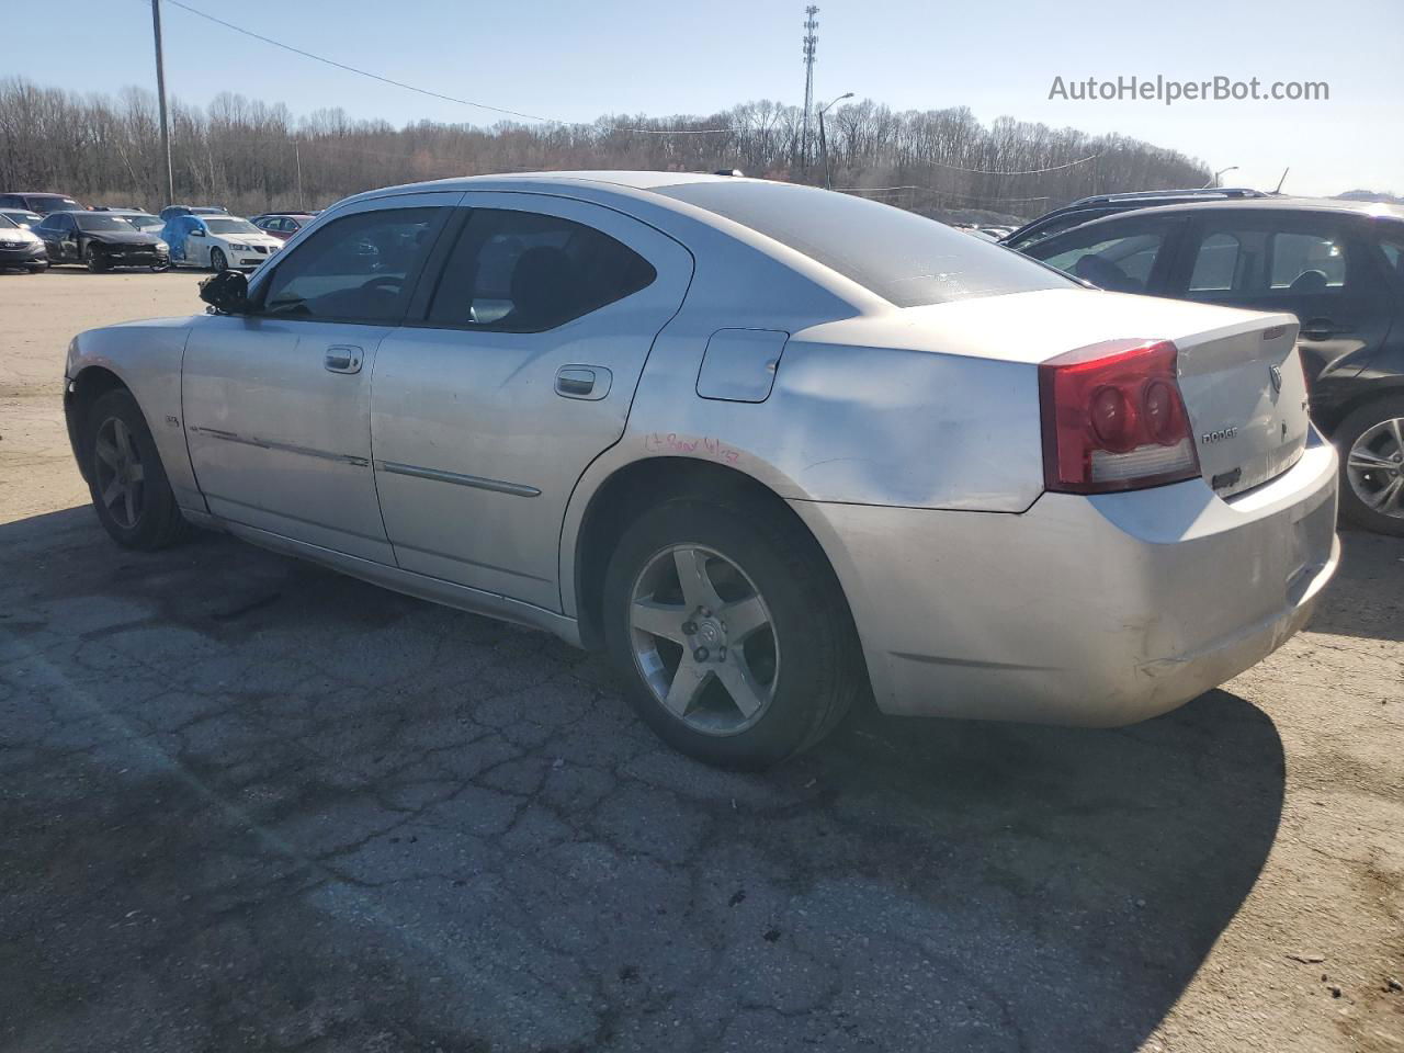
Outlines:
{"type": "Polygon", "coordinates": [[[1039,365],[1049,490],[1137,490],[1199,475],[1177,354],[1168,340],[1111,340],[1039,365]]]}

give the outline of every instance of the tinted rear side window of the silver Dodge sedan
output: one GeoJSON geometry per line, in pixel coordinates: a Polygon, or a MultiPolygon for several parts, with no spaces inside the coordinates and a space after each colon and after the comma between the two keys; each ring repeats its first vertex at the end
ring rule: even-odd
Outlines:
{"type": "Polygon", "coordinates": [[[438,326],[539,333],[653,284],[636,251],[559,216],[473,209],[430,303],[438,326]]]}

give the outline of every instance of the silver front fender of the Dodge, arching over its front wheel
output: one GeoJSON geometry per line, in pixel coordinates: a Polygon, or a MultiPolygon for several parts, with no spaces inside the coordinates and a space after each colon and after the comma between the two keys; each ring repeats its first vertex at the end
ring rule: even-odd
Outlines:
{"type": "Polygon", "coordinates": [[[191,470],[181,411],[181,359],[190,326],[191,319],[153,319],[125,322],[76,336],[69,344],[63,369],[67,378],[65,410],[69,416],[69,435],[76,438],[81,423],[73,417],[74,382],[81,385],[87,369],[105,369],[115,375],[132,392],[146,416],[177,504],[204,512],[205,498],[191,470]]]}

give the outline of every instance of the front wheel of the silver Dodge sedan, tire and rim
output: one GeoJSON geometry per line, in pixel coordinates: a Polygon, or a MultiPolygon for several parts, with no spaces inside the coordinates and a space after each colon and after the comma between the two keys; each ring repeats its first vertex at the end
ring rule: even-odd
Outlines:
{"type": "Polygon", "coordinates": [[[150,552],[185,536],[185,519],[156,452],[156,441],[136,399],[125,388],[93,403],[83,452],[93,507],[112,541],[150,552]]]}

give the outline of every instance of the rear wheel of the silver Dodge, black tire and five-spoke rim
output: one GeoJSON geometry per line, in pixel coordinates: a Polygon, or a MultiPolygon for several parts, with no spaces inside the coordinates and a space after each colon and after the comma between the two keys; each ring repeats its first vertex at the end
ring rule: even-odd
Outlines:
{"type": "Polygon", "coordinates": [[[823,552],[751,498],[643,512],[609,560],[602,612],[630,705],[716,767],[757,771],[814,746],[865,682],[823,552]]]}

